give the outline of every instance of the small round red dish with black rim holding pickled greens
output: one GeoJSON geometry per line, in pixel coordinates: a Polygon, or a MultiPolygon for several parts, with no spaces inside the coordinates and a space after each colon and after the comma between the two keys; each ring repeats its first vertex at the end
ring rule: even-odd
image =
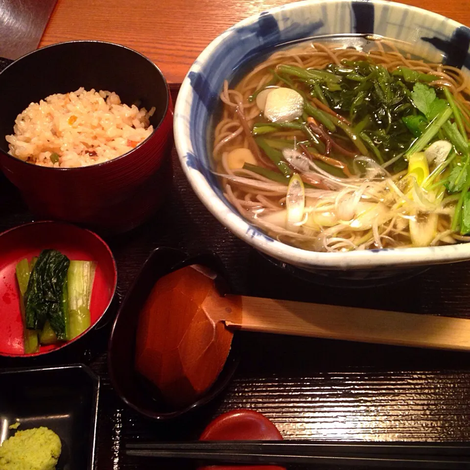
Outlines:
{"type": "Polygon", "coordinates": [[[116,291],[118,273],[108,245],[96,234],[62,222],[33,222],[0,234],[0,355],[30,357],[65,348],[87,334],[102,318],[116,291]],[[39,352],[24,354],[20,291],[15,268],[24,258],[30,260],[41,250],[52,248],[70,259],[95,261],[91,327],[68,342],[41,346],[39,352]]]}

